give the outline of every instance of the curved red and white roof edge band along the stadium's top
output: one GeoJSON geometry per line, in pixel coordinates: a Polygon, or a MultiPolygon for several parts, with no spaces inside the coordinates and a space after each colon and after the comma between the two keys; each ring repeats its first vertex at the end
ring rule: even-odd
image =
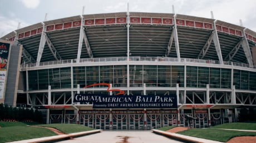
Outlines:
{"type": "MultiPolygon", "coordinates": [[[[146,13],[146,12],[129,12],[130,17],[159,17],[159,18],[173,18],[175,14],[173,13],[146,13]]],[[[126,17],[127,12],[117,12],[117,13],[101,13],[101,14],[84,14],[82,17],[84,19],[92,19],[92,18],[111,18],[111,17],[126,17]]],[[[216,20],[216,25],[220,25],[223,27],[238,29],[238,30],[244,30],[245,32],[252,35],[256,38],[256,32],[253,30],[250,30],[248,28],[242,27],[240,25],[235,25],[228,22],[219,21],[218,19],[211,19],[211,18],[203,18],[203,17],[194,17],[194,16],[187,16],[183,14],[176,14],[176,18],[178,19],[185,19],[185,20],[191,20],[191,21],[197,21],[197,22],[208,22],[213,23],[216,20]]],[[[53,19],[51,21],[45,21],[46,25],[50,24],[57,24],[57,23],[63,23],[63,22],[71,22],[71,21],[79,21],[81,20],[81,16],[72,16],[72,17],[66,17],[66,18],[60,18],[60,19],[53,19]]],[[[42,22],[36,23],[33,25],[29,25],[24,28],[20,28],[17,30],[14,30],[6,35],[4,35],[0,39],[8,39],[11,37],[14,37],[17,33],[27,32],[28,30],[37,29],[42,27],[42,22]]]]}

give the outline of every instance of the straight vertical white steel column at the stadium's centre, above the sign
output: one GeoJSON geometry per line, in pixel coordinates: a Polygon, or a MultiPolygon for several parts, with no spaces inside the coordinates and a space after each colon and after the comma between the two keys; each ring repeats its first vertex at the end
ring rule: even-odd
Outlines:
{"type": "Polygon", "coordinates": [[[127,95],[130,94],[130,13],[129,13],[129,3],[127,3],[127,95]]]}

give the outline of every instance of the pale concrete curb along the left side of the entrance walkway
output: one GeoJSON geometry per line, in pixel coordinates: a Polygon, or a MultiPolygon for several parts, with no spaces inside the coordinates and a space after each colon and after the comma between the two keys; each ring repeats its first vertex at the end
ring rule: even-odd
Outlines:
{"type": "Polygon", "coordinates": [[[85,136],[85,135],[90,135],[90,134],[96,134],[101,132],[102,130],[91,130],[91,131],[83,131],[83,132],[75,132],[71,134],[66,134],[66,135],[56,135],[56,136],[48,136],[48,137],[40,137],[36,139],[28,139],[28,140],[21,140],[21,141],[13,141],[9,143],[39,143],[39,142],[56,142],[56,141],[61,141],[61,140],[68,140],[72,139],[75,137],[80,137],[80,136],[85,136]]]}

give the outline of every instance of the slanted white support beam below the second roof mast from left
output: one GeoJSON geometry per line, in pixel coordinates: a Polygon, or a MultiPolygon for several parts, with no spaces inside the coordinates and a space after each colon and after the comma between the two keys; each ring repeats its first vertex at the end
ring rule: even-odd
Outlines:
{"type": "Polygon", "coordinates": [[[43,54],[43,49],[45,48],[45,43],[46,43],[45,23],[42,23],[42,25],[43,25],[43,30],[42,30],[42,34],[41,34],[40,44],[38,47],[36,67],[38,67],[40,64],[42,54],[43,54]]]}

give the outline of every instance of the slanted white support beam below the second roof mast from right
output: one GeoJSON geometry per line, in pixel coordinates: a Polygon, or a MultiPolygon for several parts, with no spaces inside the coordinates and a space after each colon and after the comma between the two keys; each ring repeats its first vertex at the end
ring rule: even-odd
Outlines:
{"type": "Polygon", "coordinates": [[[219,62],[220,62],[220,64],[224,64],[223,59],[222,59],[222,54],[221,54],[221,49],[220,49],[220,42],[219,42],[219,37],[218,37],[218,32],[217,32],[217,29],[216,29],[215,22],[216,21],[213,22],[213,28],[214,28],[213,42],[214,42],[214,45],[215,45],[216,53],[217,53],[218,58],[219,58],[219,62]]]}

